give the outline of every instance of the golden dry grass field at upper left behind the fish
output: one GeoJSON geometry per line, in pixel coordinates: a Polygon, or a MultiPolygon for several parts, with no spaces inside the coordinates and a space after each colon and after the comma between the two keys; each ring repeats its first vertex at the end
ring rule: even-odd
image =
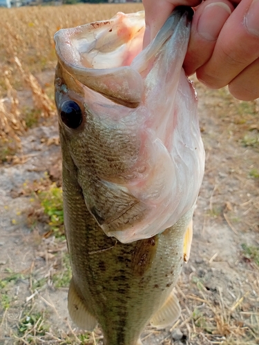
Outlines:
{"type": "Polygon", "coordinates": [[[30,126],[32,116],[40,121],[55,115],[52,86],[42,85],[34,76],[55,68],[55,32],[111,18],[119,10],[135,12],[142,5],[0,8],[0,161],[17,162],[14,155],[20,149],[19,137],[30,126]],[[24,88],[32,92],[33,103],[19,104],[17,91],[24,88]]]}

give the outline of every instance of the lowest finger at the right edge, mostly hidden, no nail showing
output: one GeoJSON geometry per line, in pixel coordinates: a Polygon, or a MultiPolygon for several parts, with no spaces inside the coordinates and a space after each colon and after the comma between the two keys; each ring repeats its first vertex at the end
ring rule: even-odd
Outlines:
{"type": "Polygon", "coordinates": [[[242,101],[252,101],[259,98],[259,59],[253,61],[251,65],[229,83],[229,92],[233,97],[242,101]]]}

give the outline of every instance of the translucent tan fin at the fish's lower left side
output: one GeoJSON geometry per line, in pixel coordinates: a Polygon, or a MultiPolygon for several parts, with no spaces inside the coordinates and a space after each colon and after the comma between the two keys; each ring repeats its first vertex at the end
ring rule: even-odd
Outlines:
{"type": "Polygon", "coordinates": [[[73,278],[71,279],[68,291],[68,312],[77,327],[84,331],[92,332],[97,326],[97,319],[89,313],[86,305],[79,297],[77,290],[75,289],[73,278]]]}

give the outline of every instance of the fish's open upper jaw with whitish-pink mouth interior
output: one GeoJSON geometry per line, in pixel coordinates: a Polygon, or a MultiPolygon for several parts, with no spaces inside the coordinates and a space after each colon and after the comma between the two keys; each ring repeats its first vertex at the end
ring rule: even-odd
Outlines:
{"type": "Polygon", "coordinates": [[[109,21],[59,30],[59,62],[78,81],[109,99],[135,108],[143,92],[139,73],[127,66],[142,50],[144,11],[119,12],[109,21]]]}

